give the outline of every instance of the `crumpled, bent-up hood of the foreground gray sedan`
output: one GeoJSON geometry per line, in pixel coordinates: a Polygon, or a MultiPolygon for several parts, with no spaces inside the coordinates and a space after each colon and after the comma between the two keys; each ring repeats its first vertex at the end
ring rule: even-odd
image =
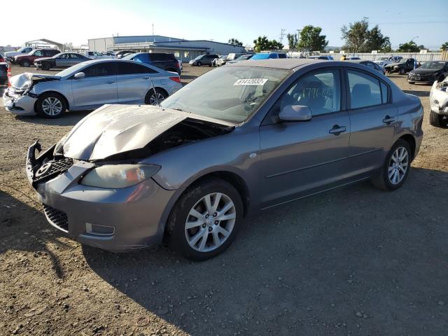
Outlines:
{"type": "Polygon", "coordinates": [[[151,105],[104,105],[80,120],[56,145],[66,158],[102,160],[144,148],[181,121],[191,118],[235,126],[222,120],[151,105]]]}

